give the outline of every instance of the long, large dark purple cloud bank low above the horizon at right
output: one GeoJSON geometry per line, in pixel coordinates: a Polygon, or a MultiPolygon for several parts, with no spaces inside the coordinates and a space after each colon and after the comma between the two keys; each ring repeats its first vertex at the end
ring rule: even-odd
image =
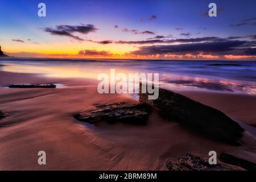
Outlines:
{"type": "Polygon", "coordinates": [[[137,51],[131,52],[133,55],[198,55],[203,52],[210,55],[256,55],[256,48],[246,47],[244,40],[225,40],[219,42],[188,43],[179,45],[158,45],[143,46],[137,51]]]}

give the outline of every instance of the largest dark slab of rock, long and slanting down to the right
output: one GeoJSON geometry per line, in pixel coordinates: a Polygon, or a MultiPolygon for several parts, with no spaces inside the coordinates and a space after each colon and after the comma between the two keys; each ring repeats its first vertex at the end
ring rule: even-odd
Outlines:
{"type": "Polygon", "coordinates": [[[148,93],[139,93],[139,101],[154,107],[163,118],[179,122],[197,134],[240,145],[237,139],[244,130],[217,109],[162,88],[159,88],[158,99],[148,100],[148,93]]]}

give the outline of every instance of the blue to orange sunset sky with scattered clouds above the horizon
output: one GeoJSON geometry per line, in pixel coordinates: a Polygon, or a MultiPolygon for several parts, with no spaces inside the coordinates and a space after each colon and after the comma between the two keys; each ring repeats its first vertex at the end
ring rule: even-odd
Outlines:
{"type": "Polygon", "coordinates": [[[10,56],[256,60],[256,1],[0,0],[10,56]],[[46,17],[38,4],[46,4],[46,17]],[[217,16],[210,17],[209,3],[217,16]]]}

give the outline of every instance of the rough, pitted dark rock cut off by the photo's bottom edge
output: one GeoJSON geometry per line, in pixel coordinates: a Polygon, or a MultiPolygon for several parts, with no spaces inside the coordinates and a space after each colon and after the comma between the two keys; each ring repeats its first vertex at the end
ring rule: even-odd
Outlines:
{"type": "Polygon", "coordinates": [[[220,164],[208,163],[208,160],[203,160],[192,154],[185,154],[181,158],[177,159],[176,163],[172,163],[170,160],[166,163],[166,167],[169,171],[234,171],[235,168],[220,164]]]}

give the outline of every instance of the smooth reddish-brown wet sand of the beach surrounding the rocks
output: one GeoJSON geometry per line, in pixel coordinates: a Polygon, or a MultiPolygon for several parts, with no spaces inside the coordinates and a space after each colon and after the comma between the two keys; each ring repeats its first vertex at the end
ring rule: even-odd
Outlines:
{"type": "MultiPolygon", "coordinates": [[[[98,94],[97,83],[78,78],[46,78],[26,73],[0,72],[0,85],[64,84],[57,89],[0,88],[1,170],[166,170],[168,159],[184,153],[207,158],[208,152],[229,151],[256,160],[256,139],[245,133],[242,146],[205,139],[152,113],[145,126],[116,123],[98,126],[77,122],[72,115],[97,104],[137,102],[125,94],[98,94]],[[46,151],[47,164],[38,164],[38,151],[46,151]]],[[[224,111],[244,123],[256,117],[253,96],[187,92],[184,95],[224,111]],[[239,104],[238,104],[239,103],[239,104]],[[248,105],[248,103],[250,105],[248,105]]]]}

